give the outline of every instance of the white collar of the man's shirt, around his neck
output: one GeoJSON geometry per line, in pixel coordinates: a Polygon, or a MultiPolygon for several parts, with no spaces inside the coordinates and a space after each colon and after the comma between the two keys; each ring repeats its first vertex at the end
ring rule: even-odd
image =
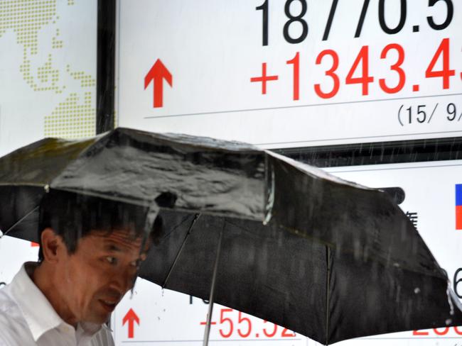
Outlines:
{"type": "MultiPolygon", "coordinates": [[[[42,291],[29,277],[28,272],[32,273],[37,265],[36,262],[26,262],[11,281],[11,294],[14,296],[19,308],[21,308],[24,319],[31,330],[33,340],[36,342],[48,330],[59,325],[68,325],[60,318],[42,291]]],[[[85,335],[91,337],[102,326],[95,323],[80,323],[79,327],[85,335]]]]}

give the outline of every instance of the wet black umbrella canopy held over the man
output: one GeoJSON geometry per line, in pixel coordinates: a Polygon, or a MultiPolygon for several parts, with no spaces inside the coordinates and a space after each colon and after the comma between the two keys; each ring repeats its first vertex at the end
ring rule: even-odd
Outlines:
{"type": "Polygon", "coordinates": [[[159,213],[141,277],[200,298],[213,286],[215,302],[325,344],[462,325],[444,270],[390,196],[272,152],[126,128],[48,138],[0,159],[0,229],[37,241],[50,189],[144,206],[149,223],[159,213]]]}

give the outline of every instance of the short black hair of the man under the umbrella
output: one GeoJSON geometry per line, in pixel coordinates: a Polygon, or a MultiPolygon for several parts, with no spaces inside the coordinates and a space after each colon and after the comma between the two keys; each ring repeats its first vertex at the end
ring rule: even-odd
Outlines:
{"type": "MultiPolygon", "coordinates": [[[[114,230],[127,230],[134,239],[142,238],[147,213],[146,207],[51,189],[40,204],[39,243],[41,245],[41,233],[48,227],[63,238],[70,254],[77,249],[80,238],[95,230],[108,235],[114,230]]],[[[161,233],[162,220],[157,216],[148,236],[157,243],[161,233]]],[[[41,246],[38,261],[42,260],[41,246]]]]}

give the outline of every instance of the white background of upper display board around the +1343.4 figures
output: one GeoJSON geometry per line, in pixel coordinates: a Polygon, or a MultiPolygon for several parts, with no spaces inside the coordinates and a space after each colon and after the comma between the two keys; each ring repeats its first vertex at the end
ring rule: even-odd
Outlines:
{"type": "MultiPolygon", "coordinates": [[[[291,2],[291,1],[289,1],[291,2]]],[[[117,53],[117,113],[119,125],[158,132],[180,132],[242,140],[264,147],[292,147],[358,143],[377,140],[434,138],[457,135],[462,114],[462,3],[453,6],[451,23],[442,30],[429,26],[448,16],[445,1],[428,6],[426,1],[404,1],[406,17],[398,33],[388,34],[379,23],[379,1],[370,1],[361,35],[355,38],[364,1],[339,1],[330,34],[323,34],[332,1],[306,1],[308,33],[301,43],[284,39],[284,13],[287,1],[267,0],[268,45],[262,45],[262,0],[184,2],[119,1],[117,53]],[[414,27],[419,27],[414,31],[414,27]],[[441,77],[426,77],[432,57],[441,42],[448,39],[447,70],[441,77]],[[380,79],[394,88],[399,74],[390,69],[402,47],[404,71],[402,89],[392,94],[380,86],[380,79]],[[367,46],[367,84],[346,84],[346,77],[361,48],[367,46]],[[338,92],[327,99],[316,94],[314,85],[331,91],[333,79],[326,76],[333,57],[338,55],[338,92]],[[299,99],[294,100],[294,64],[287,64],[299,52],[299,99]],[[162,106],[154,107],[154,82],[145,88],[144,79],[160,59],[172,75],[172,86],[162,85],[162,106]],[[262,75],[278,79],[250,82],[262,75]],[[414,85],[419,90],[414,91],[414,85]],[[456,108],[452,118],[453,104],[456,108]],[[421,113],[417,113],[418,106],[421,113]],[[408,110],[410,108],[410,111],[408,110]],[[401,111],[399,111],[401,109],[401,111]],[[409,118],[410,113],[410,118],[409,118]],[[425,115],[424,115],[425,113],[425,115]],[[296,124],[296,125],[295,125],[296,124]]],[[[385,23],[399,23],[399,0],[385,1],[385,23]]],[[[301,2],[289,6],[293,16],[301,13],[301,2]]],[[[289,35],[299,37],[301,22],[289,26],[289,35]]],[[[353,77],[362,75],[362,59],[353,77]]],[[[443,54],[433,71],[443,69],[443,54]]],[[[150,79],[149,79],[150,80],[150,79]]],[[[161,80],[161,79],[159,79],[161,80]]],[[[160,84],[159,84],[160,85],[160,84]]],[[[158,98],[159,99],[159,98],[158,98]]]]}

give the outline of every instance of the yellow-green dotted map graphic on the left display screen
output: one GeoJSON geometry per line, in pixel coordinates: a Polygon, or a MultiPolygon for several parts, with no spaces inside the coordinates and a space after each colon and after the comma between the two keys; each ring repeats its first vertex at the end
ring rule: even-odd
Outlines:
{"type": "MultiPolygon", "coordinates": [[[[67,6],[73,6],[68,0],[67,6]]],[[[67,65],[65,71],[53,67],[55,50],[66,44],[60,40],[56,29],[51,38],[51,51],[39,51],[38,37],[41,29],[58,21],[58,0],[0,0],[0,37],[7,30],[14,30],[16,42],[23,48],[23,59],[19,67],[24,81],[34,92],[52,91],[69,94],[51,114],[45,114],[45,136],[80,138],[95,135],[96,111],[94,104],[96,80],[85,71],[74,71],[67,65]],[[34,57],[48,56],[45,63],[32,67],[34,57]],[[68,75],[66,75],[68,74],[68,75]],[[80,90],[66,90],[63,84],[68,76],[80,81],[80,90]],[[65,92],[67,91],[67,93],[65,92]]]]}

